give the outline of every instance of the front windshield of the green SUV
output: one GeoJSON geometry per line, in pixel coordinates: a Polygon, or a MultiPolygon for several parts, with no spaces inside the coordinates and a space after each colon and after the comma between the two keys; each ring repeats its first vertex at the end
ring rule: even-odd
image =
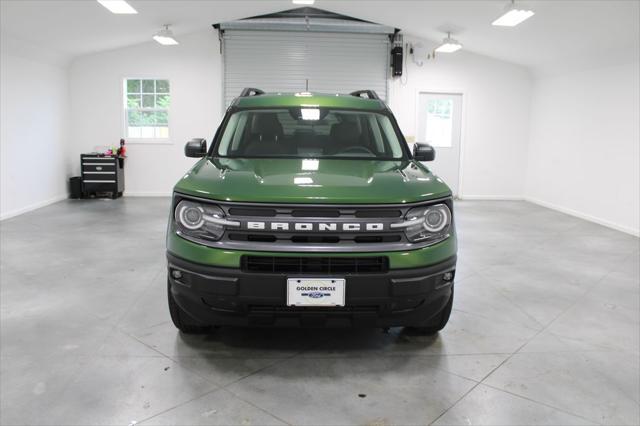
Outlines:
{"type": "Polygon", "coordinates": [[[255,109],[234,113],[217,147],[221,157],[404,157],[389,117],[330,108],[255,109]]]}

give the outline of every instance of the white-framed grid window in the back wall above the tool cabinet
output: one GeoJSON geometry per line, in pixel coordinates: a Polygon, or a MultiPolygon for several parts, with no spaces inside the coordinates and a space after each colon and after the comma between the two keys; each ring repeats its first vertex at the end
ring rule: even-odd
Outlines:
{"type": "Polygon", "coordinates": [[[124,81],[125,134],[130,139],[169,139],[169,80],[124,81]]]}

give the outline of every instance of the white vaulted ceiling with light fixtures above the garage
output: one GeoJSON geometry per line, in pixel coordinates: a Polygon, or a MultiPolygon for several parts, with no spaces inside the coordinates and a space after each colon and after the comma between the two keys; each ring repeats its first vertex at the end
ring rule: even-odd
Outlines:
{"type": "MultiPolygon", "coordinates": [[[[129,0],[137,15],[113,15],[94,0],[3,0],[3,34],[71,57],[150,40],[163,24],[176,35],[211,24],[295,7],[288,0],[129,0]]],[[[492,27],[506,0],[317,0],[314,7],[440,40],[451,31],[467,51],[534,72],[592,68],[638,60],[640,1],[527,1],[534,17],[492,27]]],[[[212,30],[213,31],[213,30],[212,30]]]]}

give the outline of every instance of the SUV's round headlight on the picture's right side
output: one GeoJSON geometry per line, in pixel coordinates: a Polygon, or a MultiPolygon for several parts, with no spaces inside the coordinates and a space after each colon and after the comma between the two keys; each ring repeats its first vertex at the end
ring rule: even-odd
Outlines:
{"type": "Polygon", "coordinates": [[[449,236],[451,210],[446,204],[418,207],[407,212],[405,234],[411,242],[428,241],[432,244],[449,236]]]}

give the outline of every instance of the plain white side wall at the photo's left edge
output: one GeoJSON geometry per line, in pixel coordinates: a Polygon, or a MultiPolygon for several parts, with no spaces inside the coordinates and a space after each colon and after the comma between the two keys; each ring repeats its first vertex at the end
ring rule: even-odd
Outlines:
{"type": "Polygon", "coordinates": [[[68,118],[64,58],[2,34],[1,219],[66,198],[68,118]]]}

